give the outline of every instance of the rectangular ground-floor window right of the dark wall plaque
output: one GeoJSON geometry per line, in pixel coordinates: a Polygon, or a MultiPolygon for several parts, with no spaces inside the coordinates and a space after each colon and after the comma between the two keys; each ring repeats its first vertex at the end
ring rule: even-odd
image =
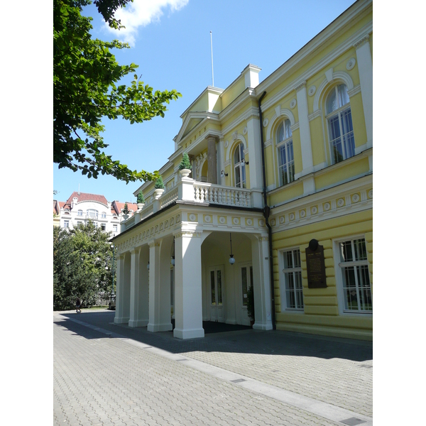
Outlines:
{"type": "Polygon", "coordinates": [[[338,247],[344,312],[373,312],[366,240],[349,239],[338,247]]]}

